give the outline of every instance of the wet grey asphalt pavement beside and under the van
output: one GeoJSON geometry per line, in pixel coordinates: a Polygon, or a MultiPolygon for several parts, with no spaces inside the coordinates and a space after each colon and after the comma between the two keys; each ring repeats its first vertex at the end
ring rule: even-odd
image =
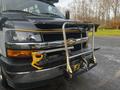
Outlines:
{"type": "MultiPolygon", "coordinates": [[[[61,79],[58,87],[53,83],[34,90],[120,90],[120,38],[99,37],[96,46],[101,50],[96,53],[94,69],[71,81],[61,79]]],[[[0,90],[5,90],[1,84],[0,90]]]]}

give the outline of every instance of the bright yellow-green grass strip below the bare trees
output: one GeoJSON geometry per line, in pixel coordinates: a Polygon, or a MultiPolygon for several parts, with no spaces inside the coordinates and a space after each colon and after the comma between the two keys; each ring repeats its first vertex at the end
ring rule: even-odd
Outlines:
{"type": "MultiPolygon", "coordinates": [[[[91,36],[91,33],[89,33],[91,36]]],[[[120,29],[98,29],[97,32],[95,32],[95,36],[118,36],[120,37],[120,29]]]]}

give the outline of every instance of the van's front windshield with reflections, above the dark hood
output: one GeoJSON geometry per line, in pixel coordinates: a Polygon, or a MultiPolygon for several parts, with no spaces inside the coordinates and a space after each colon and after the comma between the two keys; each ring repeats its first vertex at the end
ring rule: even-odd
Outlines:
{"type": "Polygon", "coordinates": [[[38,0],[1,0],[3,11],[20,10],[35,15],[64,18],[63,14],[53,5],[38,0]]]}

